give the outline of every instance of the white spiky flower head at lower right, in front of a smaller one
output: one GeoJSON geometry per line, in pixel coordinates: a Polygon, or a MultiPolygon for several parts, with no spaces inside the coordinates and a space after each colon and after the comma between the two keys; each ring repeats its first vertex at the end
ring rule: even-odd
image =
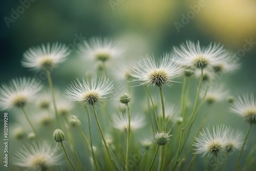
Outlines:
{"type": "Polygon", "coordinates": [[[196,142],[193,143],[195,154],[200,154],[201,157],[206,154],[210,157],[219,155],[225,149],[227,135],[228,128],[223,125],[212,127],[212,130],[207,127],[199,133],[199,136],[196,137],[196,142]]]}

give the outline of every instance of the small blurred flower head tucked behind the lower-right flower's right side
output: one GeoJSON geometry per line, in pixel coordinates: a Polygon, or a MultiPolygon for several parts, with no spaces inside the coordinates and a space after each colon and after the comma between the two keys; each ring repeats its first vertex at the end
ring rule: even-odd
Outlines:
{"type": "Polygon", "coordinates": [[[226,152],[232,152],[236,149],[241,149],[243,145],[243,135],[241,132],[234,132],[232,129],[228,129],[225,150],[226,152]]]}

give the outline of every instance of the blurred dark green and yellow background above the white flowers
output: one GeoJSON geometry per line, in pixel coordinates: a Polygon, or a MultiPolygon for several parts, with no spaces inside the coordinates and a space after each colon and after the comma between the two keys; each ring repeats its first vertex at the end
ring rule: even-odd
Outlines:
{"type": "MultiPolygon", "coordinates": [[[[54,84],[65,89],[72,80],[95,68],[77,53],[82,40],[101,36],[122,41],[126,48],[122,59],[134,60],[146,54],[160,57],[163,52],[172,52],[173,46],[179,46],[185,40],[199,40],[203,46],[211,41],[220,42],[226,49],[237,53],[241,64],[238,72],[224,75],[221,82],[235,97],[256,92],[254,0],[21,0],[1,1],[0,4],[1,84],[20,76],[44,78],[44,75],[20,65],[23,53],[32,46],[59,41],[72,50],[68,60],[52,73],[54,84]]],[[[181,86],[179,92],[180,89],[181,86]]],[[[244,132],[243,129],[247,129],[247,123],[234,115],[230,119],[229,114],[216,112],[210,119],[212,123],[241,125],[239,127],[244,132]]],[[[255,140],[251,136],[249,144],[255,140]]]]}

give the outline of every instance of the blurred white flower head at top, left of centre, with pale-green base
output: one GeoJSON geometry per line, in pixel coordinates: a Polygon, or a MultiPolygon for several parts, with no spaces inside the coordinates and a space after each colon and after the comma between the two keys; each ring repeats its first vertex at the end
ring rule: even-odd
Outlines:
{"type": "Polygon", "coordinates": [[[102,62],[121,56],[123,48],[120,44],[108,38],[91,38],[89,41],[84,41],[80,51],[86,57],[97,59],[102,62]]]}

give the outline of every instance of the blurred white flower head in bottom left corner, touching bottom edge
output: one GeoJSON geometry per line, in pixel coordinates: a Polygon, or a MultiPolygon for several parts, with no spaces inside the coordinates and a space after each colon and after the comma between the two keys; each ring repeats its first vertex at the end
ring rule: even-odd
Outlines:
{"type": "Polygon", "coordinates": [[[62,155],[56,145],[47,142],[24,145],[13,159],[13,164],[28,170],[49,170],[60,165],[62,155]]]}

